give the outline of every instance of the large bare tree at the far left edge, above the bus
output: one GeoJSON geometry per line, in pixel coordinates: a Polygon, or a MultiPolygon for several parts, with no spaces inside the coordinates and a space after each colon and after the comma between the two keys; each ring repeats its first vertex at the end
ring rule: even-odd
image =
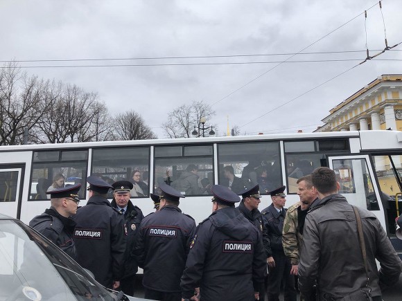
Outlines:
{"type": "Polygon", "coordinates": [[[0,71],[0,145],[18,145],[24,141],[24,129],[37,125],[42,113],[55,99],[47,93],[51,83],[28,77],[15,62],[0,71]]]}

